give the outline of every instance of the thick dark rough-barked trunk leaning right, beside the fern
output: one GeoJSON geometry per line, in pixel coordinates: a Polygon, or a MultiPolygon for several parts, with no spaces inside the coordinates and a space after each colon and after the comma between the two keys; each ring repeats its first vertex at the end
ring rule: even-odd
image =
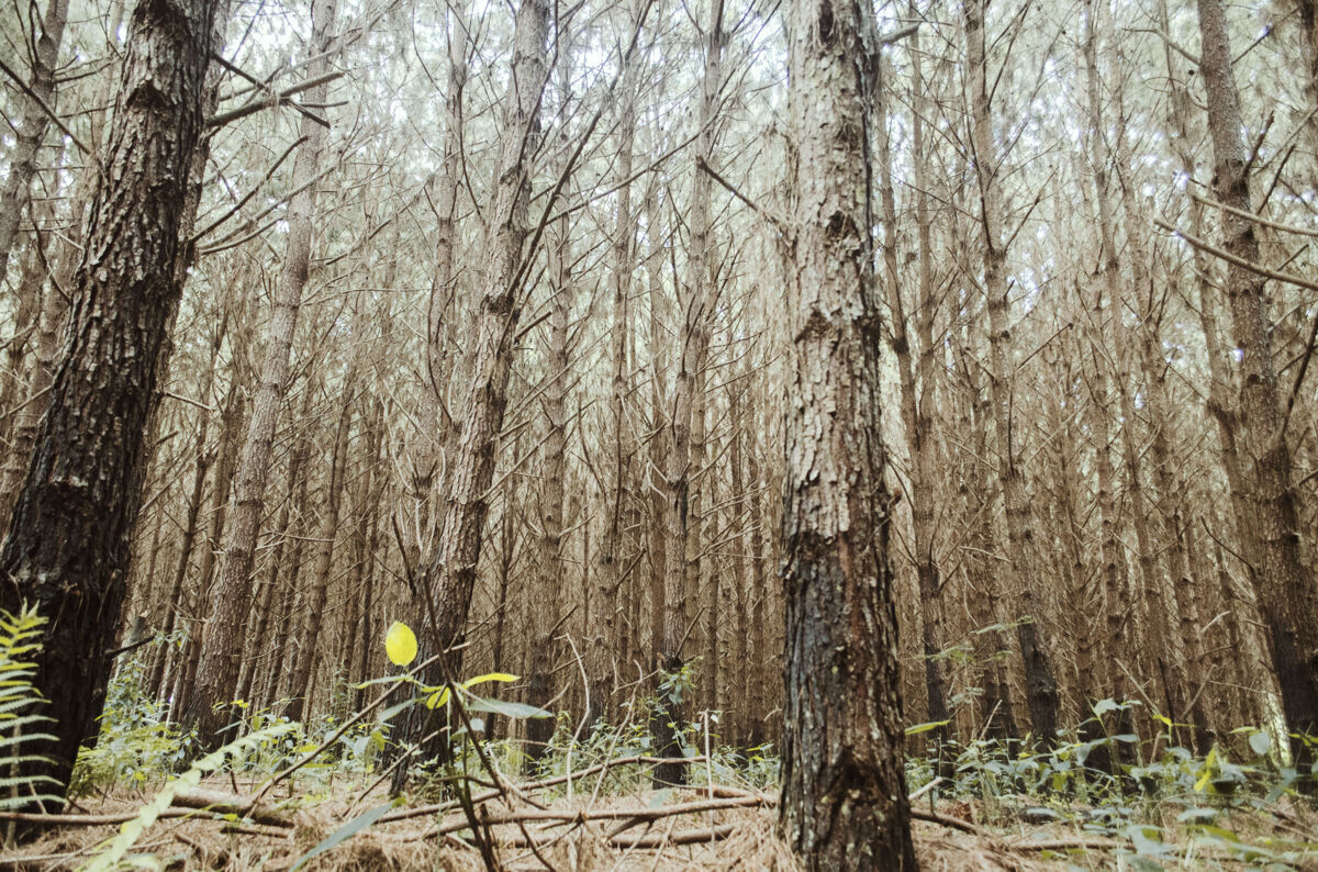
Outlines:
{"type": "MultiPolygon", "coordinates": [[[[50,623],[36,686],[54,743],[14,775],[47,775],[62,796],[78,746],[95,732],[119,628],[152,443],[167,331],[182,286],[183,188],[204,125],[203,91],[228,8],[141,4],[129,25],[120,101],[92,203],[72,323],[32,465],[0,549],[0,609],[26,601],[50,623]]],[[[54,810],[54,809],[51,809],[54,810]]]]}

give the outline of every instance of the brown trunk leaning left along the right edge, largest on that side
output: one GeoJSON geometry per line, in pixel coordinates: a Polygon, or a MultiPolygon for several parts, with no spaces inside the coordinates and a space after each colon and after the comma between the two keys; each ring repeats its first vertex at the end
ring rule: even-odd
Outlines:
{"type": "MultiPolygon", "coordinates": [[[[1249,162],[1222,3],[1198,0],[1198,9],[1199,72],[1209,107],[1214,192],[1223,205],[1249,213],[1249,162]]],[[[1257,263],[1259,240],[1251,221],[1223,209],[1220,225],[1226,252],[1257,263]]],[[[1301,555],[1286,420],[1272,361],[1268,298],[1264,279],[1234,263],[1227,266],[1226,287],[1235,346],[1240,349],[1239,447],[1256,518],[1249,531],[1255,537],[1251,577],[1268,628],[1286,724],[1293,732],[1318,735],[1318,590],[1301,555]]],[[[1301,771],[1314,761],[1314,751],[1304,740],[1292,742],[1292,751],[1301,771]]]]}

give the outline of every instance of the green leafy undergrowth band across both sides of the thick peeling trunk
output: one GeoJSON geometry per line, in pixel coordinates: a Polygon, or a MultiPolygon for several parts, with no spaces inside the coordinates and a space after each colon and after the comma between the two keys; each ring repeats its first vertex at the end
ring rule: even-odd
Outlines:
{"type": "MultiPolygon", "coordinates": [[[[9,639],[16,640],[9,645],[11,660],[5,663],[18,664],[7,668],[21,677],[28,673],[21,660],[13,657],[14,652],[22,653],[21,643],[28,636],[13,627],[12,620],[5,624],[9,639]]],[[[414,640],[406,653],[415,656],[414,640]]],[[[405,663],[395,659],[395,663],[406,667],[410,657],[405,663]]],[[[639,757],[658,753],[650,732],[658,698],[641,698],[623,706],[619,723],[601,719],[584,724],[559,713],[552,739],[532,760],[518,739],[490,739],[486,724],[494,717],[515,719],[547,713],[472,692],[473,686],[489,681],[515,681],[515,676],[490,673],[460,685],[432,688],[406,673],[402,681],[415,685],[411,698],[344,730],[343,735],[339,735],[340,727],[352,717],[347,705],[335,706],[333,715],[294,723],[277,711],[249,711],[245,703],[236,703],[235,730],[225,752],[188,765],[196,756],[191,736],[167,722],[167,713],[145,692],[142,680],[140,663],[124,664],[115,676],[100,735],[95,746],[84,748],[79,756],[74,788],[78,793],[133,788],[145,798],[152,785],[163,782],[165,786],[156,788],[154,798],[144,806],[146,817],[150,809],[159,809],[161,797],[174,789],[171,785],[186,785],[202,773],[220,772],[245,773],[253,782],[262,781],[322,747],[323,751],[298,775],[295,804],[328,798],[336,778],[353,781],[358,788],[373,784],[390,761],[386,749],[394,715],[402,707],[424,705],[456,726],[460,719],[451,711],[459,705],[455,695],[463,706],[461,722],[469,723],[472,732],[464,727],[453,734],[453,753],[444,767],[418,767],[414,800],[448,798],[453,789],[460,794],[471,790],[463,785],[485,778],[485,761],[510,780],[555,780],[544,793],[547,798],[654,790],[651,765],[639,757]],[[638,760],[616,765],[634,757],[638,760]],[[169,773],[179,771],[182,776],[167,780],[169,773]]],[[[344,684],[340,695],[348,699],[360,688],[386,681],[399,678],[381,678],[360,686],[344,684]]],[[[675,692],[687,693],[692,681],[689,670],[670,677],[660,693],[671,699],[675,692]]],[[[983,738],[944,742],[908,757],[908,788],[920,794],[917,805],[928,805],[934,811],[960,807],[966,819],[985,831],[1007,831],[1025,823],[1040,832],[1111,839],[1123,846],[1115,855],[1127,868],[1222,868],[1243,863],[1290,869],[1318,856],[1318,835],[1304,829],[1304,821],[1313,819],[1313,809],[1306,807],[1311,798],[1297,790],[1302,777],[1318,777],[1318,772],[1298,772],[1280,753],[1272,735],[1253,727],[1219,736],[1206,753],[1195,753],[1177,743],[1180,736],[1188,735],[1184,724],[1173,724],[1159,713],[1139,713],[1136,706],[1101,701],[1093,706],[1094,715],[1089,721],[1062,732],[1050,746],[983,738]],[[1156,735],[1139,736],[1133,731],[1110,728],[1114,723],[1132,721],[1161,724],[1165,730],[1160,726],[1156,735]]],[[[12,711],[22,709],[14,702],[12,711]]],[[[0,719],[12,718],[9,713],[11,709],[0,702],[0,719]]],[[[679,732],[680,753],[693,760],[687,768],[687,788],[725,785],[762,793],[776,790],[776,749],[768,744],[733,747],[721,735],[720,722],[717,711],[697,713],[679,732]]],[[[934,726],[938,724],[912,727],[908,735],[911,740],[937,735],[932,730],[934,726]]],[[[0,751],[3,747],[0,744],[0,751]]],[[[291,788],[290,793],[294,793],[291,788]]],[[[663,802],[667,793],[658,790],[654,796],[663,802]]],[[[380,809],[370,811],[377,817],[378,813],[380,809]]],[[[369,821],[355,826],[369,826],[369,821]]]]}

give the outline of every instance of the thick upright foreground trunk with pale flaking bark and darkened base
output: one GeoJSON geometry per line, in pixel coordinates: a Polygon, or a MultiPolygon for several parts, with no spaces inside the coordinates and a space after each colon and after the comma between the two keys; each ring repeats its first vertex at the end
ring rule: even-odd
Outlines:
{"type": "Polygon", "coordinates": [[[789,20],[797,225],[780,822],[808,869],[915,869],[902,768],[890,497],[879,422],[882,320],[866,132],[870,8],[800,0],[789,20]]]}

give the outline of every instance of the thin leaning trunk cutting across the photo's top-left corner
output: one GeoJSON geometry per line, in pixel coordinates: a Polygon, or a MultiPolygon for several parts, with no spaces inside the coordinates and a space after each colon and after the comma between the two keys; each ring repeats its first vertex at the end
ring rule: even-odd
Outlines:
{"type": "MultiPolygon", "coordinates": [[[[4,282],[9,269],[9,252],[13,250],[18,237],[22,209],[32,199],[37,150],[50,128],[50,116],[41,103],[51,108],[55,105],[55,67],[59,65],[59,43],[63,41],[67,21],[69,0],[50,0],[41,20],[32,80],[28,83],[34,96],[24,95],[22,120],[16,132],[13,149],[9,151],[9,175],[5,177],[4,188],[0,188],[0,282],[4,282]]],[[[95,144],[88,148],[95,148],[95,144]]]]}

